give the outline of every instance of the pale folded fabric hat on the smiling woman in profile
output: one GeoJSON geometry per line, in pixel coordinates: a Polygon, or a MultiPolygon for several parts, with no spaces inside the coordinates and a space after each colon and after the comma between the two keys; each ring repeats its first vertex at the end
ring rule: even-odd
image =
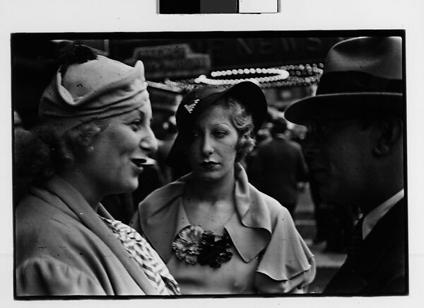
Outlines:
{"type": "Polygon", "coordinates": [[[66,132],[95,119],[128,113],[150,103],[143,62],[135,67],[98,56],[54,75],[40,99],[40,118],[66,132]]]}

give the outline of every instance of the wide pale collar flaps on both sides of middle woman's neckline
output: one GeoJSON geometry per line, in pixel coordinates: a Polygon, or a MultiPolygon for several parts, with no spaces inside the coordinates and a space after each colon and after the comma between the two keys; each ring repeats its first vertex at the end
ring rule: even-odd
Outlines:
{"type": "MultiPolygon", "coordinates": [[[[235,175],[237,214],[232,215],[224,227],[237,252],[245,262],[249,262],[266,248],[271,239],[271,215],[261,193],[249,184],[247,174],[240,164],[236,165],[235,175]]],[[[190,224],[182,206],[182,195],[192,177],[192,173],[189,173],[156,190],[139,206],[143,232],[165,262],[170,258],[170,247],[175,235],[190,224]]]]}

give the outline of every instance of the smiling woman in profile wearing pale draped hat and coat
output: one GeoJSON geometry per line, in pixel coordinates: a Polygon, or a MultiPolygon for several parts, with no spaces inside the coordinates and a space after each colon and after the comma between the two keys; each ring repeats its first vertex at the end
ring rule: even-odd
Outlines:
{"type": "Polygon", "coordinates": [[[146,240],[100,204],[135,190],[157,147],[143,63],[81,45],[59,59],[27,147],[32,186],[16,207],[16,295],[179,294],[146,240]]]}

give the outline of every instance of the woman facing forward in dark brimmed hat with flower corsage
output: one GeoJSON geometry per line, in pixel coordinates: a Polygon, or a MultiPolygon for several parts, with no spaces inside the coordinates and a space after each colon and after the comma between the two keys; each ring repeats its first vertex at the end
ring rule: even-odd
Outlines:
{"type": "Polygon", "coordinates": [[[201,86],[177,110],[167,163],[192,172],[155,190],[131,225],[143,232],[182,294],[299,292],[314,257],[288,210],[249,184],[240,160],[266,116],[259,86],[201,86]]]}

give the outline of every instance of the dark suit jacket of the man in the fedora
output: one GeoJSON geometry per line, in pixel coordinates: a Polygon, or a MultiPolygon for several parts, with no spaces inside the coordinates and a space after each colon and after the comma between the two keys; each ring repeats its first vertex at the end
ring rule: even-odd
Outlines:
{"type": "Polygon", "coordinates": [[[324,293],[346,295],[406,295],[406,205],[396,203],[326,286],[324,293]]]}

